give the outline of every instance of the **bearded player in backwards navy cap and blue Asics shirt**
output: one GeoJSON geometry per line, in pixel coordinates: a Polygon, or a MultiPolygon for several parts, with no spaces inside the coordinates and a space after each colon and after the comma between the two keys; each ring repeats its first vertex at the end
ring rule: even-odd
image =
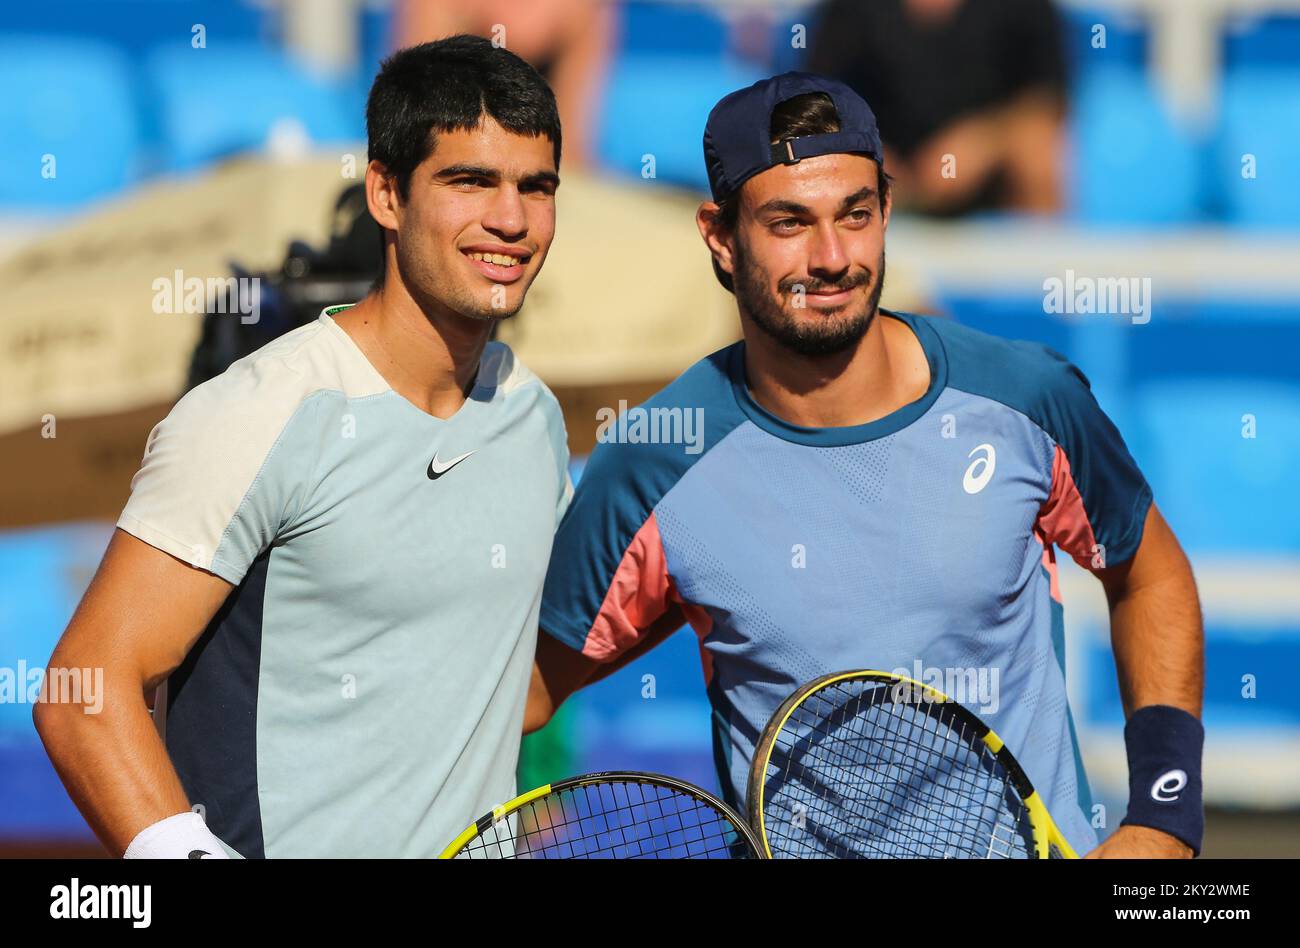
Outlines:
{"type": "Polygon", "coordinates": [[[1001,700],[972,710],[1076,852],[1197,852],[1196,588],[1088,380],[1040,345],[878,308],[889,179],[846,86],[788,73],[727,96],[705,161],[699,231],[744,341],[638,410],[702,410],[702,450],[592,455],[551,554],[526,726],[689,622],[740,805],[754,744],[800,684],[983,668],[1001,700]],[[1105,586],[1128,715],[1128,813],[1101,847],[1057,547],[1105,586]]]}

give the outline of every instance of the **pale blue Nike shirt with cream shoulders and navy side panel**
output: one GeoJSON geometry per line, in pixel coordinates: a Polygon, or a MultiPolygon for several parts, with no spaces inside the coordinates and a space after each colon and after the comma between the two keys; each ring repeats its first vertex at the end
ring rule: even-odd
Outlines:
{"type": "Polygon", "coordinates": [[[432,857],[515,795],[572,493],[560,408],[507,346],[438,419],[343,308],[182,398],[117,524],[237,586],[169,680],[166,745],[246,857],[432,857]]]}

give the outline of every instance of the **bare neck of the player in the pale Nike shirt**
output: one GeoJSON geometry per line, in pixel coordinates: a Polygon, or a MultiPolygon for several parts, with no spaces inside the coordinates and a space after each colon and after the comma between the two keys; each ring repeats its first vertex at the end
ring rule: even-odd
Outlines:
{"type": "Polygon", "coordinates": [[[404,286],[385,283],[335,323],[393,390],[436,417],[450,417],[465,402],[491,323],[421,307],[404,286]]]}

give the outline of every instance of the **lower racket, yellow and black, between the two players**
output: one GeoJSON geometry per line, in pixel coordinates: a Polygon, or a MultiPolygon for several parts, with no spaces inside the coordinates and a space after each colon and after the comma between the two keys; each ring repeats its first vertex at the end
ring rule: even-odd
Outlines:
{"type": "Polygon", "coordinates": [[[443,860],[757,860],[753,831],[685,780],[607,772],[538,787],[474,821],[443,860]]]}

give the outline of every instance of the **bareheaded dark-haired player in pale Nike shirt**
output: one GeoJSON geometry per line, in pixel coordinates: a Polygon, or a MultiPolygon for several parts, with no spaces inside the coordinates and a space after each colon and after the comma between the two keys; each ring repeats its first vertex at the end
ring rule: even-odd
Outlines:
{"type": "Polygon", "coordinates": [[[367,124],[381,283],[155,428],[52,658],[104,668],[101,714],[36,723],[116,854],[437,856],[514,796],[572,489],[554,397],[489,337],[551,244],[559,117],[454,36],[389,59],[367,124]]]}

